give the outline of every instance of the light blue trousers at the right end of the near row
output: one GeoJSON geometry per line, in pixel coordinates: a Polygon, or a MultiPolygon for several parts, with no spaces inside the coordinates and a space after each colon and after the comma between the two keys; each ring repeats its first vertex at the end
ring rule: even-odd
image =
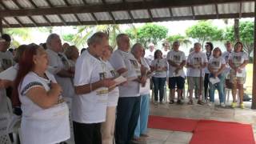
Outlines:
{"type": "Polygon", "coordinates": [[[146,134],[147,121],[150,114],[150,94],[141,95],[141,112],[138,123],[134,131],[134,137],[138,138],[141,134],[146,134]]]}

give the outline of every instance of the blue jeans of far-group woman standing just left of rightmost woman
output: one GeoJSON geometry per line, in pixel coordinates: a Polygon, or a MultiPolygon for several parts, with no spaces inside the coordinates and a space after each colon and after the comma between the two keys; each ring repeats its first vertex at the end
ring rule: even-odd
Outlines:
{"type": "MultiPolygon", "coordinates": [[[[209,78],[213,77],[213,74],[210,74],[209,78]]],[[[218,78],[220,79],[220,82],[216,84],[210,84],[210,102],[214,102],[214,91],[218,90],[218,97],[220,102],[224,102],[224,82],[225,82],[225,76],[224,74],[219,74],[218,78]]]]}

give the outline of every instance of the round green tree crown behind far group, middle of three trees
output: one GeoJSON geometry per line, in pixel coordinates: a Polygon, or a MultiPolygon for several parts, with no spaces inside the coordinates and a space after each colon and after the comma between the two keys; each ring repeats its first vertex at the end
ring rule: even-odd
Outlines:
{"type": "Polygon", "coordinates": [[[222,41],[223,30],[213,26],[210,21],[200,21],[186,30],[186,35],[202,44],[206,41],[222,41]]]}

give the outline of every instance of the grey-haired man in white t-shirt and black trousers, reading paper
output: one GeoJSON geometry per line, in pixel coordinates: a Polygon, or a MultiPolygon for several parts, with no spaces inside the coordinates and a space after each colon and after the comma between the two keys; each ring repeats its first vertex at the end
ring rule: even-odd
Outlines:
{"type": "Polygon", "coordinates": [[[109,48],[105,33],[97,32],[87,41],[89,50],[78,58],[75,66],[72,102],[75,143],[102,144],[101,123],[106,121],[109,88],[115,85],[106,78],[103,51],[109,48]]]}

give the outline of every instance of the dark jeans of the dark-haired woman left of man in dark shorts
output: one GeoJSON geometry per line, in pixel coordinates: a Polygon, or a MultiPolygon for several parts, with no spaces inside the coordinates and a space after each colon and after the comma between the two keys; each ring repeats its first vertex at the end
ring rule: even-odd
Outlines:
{"type": "Polygon", "coordinates": [[[160,102],[162,102],[164,86],[166,84],[166,78],[153,77],[152,80],[154,83],[154,101],[158,101],[158,91],[159,91],[160,102]]]}

